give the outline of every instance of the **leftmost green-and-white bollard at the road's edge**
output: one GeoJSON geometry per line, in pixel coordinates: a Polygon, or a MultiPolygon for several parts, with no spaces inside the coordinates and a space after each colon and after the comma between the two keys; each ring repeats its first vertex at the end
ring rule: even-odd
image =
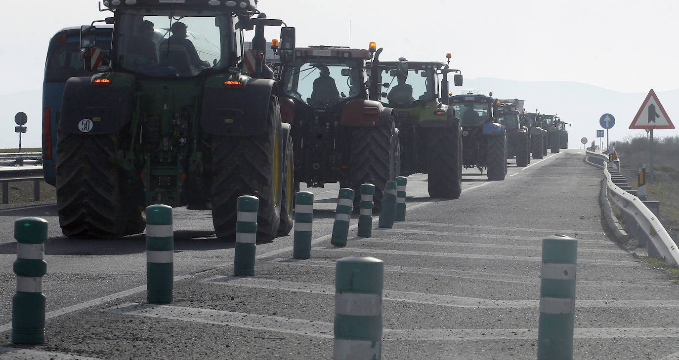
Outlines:
{"type": "Polygon", "coordinates": [[[16,293],[12,298],[12,344],[45,343],[45,296],[43,260],[47,240],[47,220],[20,218],[14,221],[16,239],[16,293]]]}

